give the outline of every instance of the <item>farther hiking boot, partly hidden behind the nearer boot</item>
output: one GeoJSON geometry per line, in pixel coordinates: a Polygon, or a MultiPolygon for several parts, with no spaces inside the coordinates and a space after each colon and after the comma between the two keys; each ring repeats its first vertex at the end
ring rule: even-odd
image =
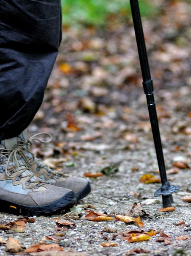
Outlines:
{"type": "Polygon", "coordinates": [[[30,169],[38,174],[41,179],[45,182],[49,182],[57,187],[68,188],[74,191],[77,201],[87,196],[91,191],[90,182],[84,178],[79,177],[68,177],[68,175],[50,169],[47,165],[45,165],[41,159],[37,158],[36,155],[31,152],[30,147],[33,144],[34,140],[38,140],[42,143],[50,142],[52,136],[47,132],[38,133],[29,139],[27,139],[27,131],[24,130],[21,135],[19,135],[19,147],[22,147],[22,157],[25,162],[28,164],[30,169]],[[48,135],[50,136],[50,140],[43,141],[37,138],[38,135],[48,135]]]}

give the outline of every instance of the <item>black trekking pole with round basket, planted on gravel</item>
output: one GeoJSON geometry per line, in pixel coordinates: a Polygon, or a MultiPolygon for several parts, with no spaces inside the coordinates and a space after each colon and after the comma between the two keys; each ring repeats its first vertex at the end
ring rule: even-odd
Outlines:
{"type": "Polygon", "coordinates": [[[153,139],[155,144],[156,156],[158,161],[158,167],[161,177],[161,187],[157,189],[154,196],[162,195],[163,207],[172,206],[173,198],[172,193],[177,192],[178,186],[170,186],[167,181],[167,174],[164,164],[164,156],[162,151],[161,136],[158,127],[157,112],[155,107],[155,100],[153,94],[153,79],[150,75],[149,62],[147,58],[147,50],[145,46],[144,33],[141,22],[141,14],[139,10],[138,0],[130,0],[131,12],[133,17],[133,24],[135,29],[135,36],[137,41],[137,48],[139,54],[139,60],[141,65],[141,72],[143,78],[143,89],[147,98],[147,106],[149,110],[149,117],[151,128],[153,132],[153,139]]]}

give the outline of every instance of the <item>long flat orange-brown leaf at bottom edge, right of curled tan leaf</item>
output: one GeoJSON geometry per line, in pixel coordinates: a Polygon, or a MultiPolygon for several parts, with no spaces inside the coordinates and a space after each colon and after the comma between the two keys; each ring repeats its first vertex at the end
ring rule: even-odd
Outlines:
{"type": "Polygon", "coordinates": [[[24,252],[41,252],[41,251],[64,251],[63,247],[58,244],[36,244],[30,246],[28,249],[24,250],[24,252]]]}

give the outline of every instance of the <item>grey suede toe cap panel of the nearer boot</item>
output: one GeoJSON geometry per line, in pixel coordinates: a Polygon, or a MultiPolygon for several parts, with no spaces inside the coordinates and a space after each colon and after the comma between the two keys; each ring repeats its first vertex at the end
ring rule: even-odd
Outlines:
{"type": "Polygon", "coordinates": [[[30,197],[38,204],[50,204],[53,201],[58,200],[59,198],[63,197],[68,192],[71,192],[71,189],[65,189],[60,187],[55,187],[53,185],[44,185],[48,190],[47,191],[37,191],[37,192],[30,192],[30,197]]]}

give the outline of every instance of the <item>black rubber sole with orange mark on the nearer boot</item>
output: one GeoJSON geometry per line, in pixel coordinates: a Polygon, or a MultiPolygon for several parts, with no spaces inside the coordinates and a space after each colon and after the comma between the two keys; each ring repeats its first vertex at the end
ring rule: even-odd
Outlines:
{"type": "Polygon", "coordinates": [[[5,200],[0,200],[1,209],[3,212],[12,213],[15,215],[22,216],[39,216],[39,215],[50,215],[59,210],[64,210],[76,204],[76,196],[73,191],[68,192],[62,198],[54,201],[51,204],[42,206],[28,206],[22,204],[16,204],[5,200]]]}

